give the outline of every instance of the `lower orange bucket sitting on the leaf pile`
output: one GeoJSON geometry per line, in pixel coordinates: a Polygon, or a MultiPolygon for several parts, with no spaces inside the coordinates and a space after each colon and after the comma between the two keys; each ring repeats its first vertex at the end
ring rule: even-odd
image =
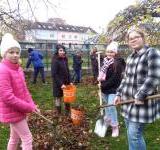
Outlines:
{"type": "Polygon", "coordinates": [[[80,125],[84,117],[84,112],[71,108],[71,119],[74,125],[80,125]]]}

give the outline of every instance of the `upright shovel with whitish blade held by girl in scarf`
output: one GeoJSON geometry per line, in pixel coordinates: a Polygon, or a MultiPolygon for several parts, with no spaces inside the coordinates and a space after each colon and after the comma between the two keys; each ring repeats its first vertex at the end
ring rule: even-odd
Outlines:
{"type": "MultiPolygon", "coordinates": [[[[101,52],[97,52],[98,54],[98,70],[100,72],[100,54],[101,52]]],[[[101,82],[99,81],[99,90],[98,90],[98,93],[99,93],[99,101],[100,101],[100,106],[102,105],[102,92],[101,92],[101,82]]],[[[99,137],[105,137],[105,134],[107,132],[107,124],[105,123],[104,121],[104,118],[103,118],[103,113],[104,113],[104,110],[101,109],[100,110],[100,118],[96,121],[96,125],[95,125],[95,129],[94,129],[94,133],[97,134],[99,137]]]]}

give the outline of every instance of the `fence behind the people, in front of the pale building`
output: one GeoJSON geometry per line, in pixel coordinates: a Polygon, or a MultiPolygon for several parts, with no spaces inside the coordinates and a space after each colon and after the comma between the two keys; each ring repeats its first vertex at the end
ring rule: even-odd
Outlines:
{"type": "MultiPolygon", "coordinates": [[[[29,47],[33,47],[35,49],[40,50],[43,53],[44,56],[44,64],[45,64],[45,70],[50,71],[51,68],[51,58],[55,51],[55,43],[20,43],[22,47],[22,66],[25,67],[27,58],[28,58],[28,51],[27,49],[29,47]]],[[[69,60],[69,67],[72,69],[72,56],[77,50],[81,50],[83,52],[83,65],[82,69],[85,70],[87,74],[91,73],[91,62],[90,62],[90,51],[93,49],[93,47],[97,47],[98,50],[105,51],[106,44],[63,44],[67,51],[67,56],[69,60]]],[[[126,45],[120,45],[119,50],[122,54],[122,57],[126,57],[130,51],[128,50],[128,47],[126,45]]]]}

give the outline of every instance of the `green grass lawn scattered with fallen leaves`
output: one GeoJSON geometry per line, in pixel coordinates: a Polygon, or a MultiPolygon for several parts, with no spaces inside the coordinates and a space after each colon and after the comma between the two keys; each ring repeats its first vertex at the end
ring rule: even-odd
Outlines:
{"type": "MultiPolygon", "coordinates": [[[[48,110],[53,107],[52,88],[50,80],[47,85],[37,83],[30,85],[29,89],[32,93],[33,99],[39,105],[40,109],[48,110]]],[[[77,103],[82,104],[87,110],[87,116],[90,119],[90,131],[93,132],[95,121],[97,117],[96,107],[99,104],[97,87],[93,85],[78,85],[77,103]]],[[[118,109],[119,110],[119,109],[118,109]]],[[[127,139],[125,133],[125,126],[123,118],[119,116],[120,120],[120,136],[118,138],[111,137],[111,129],[108,129],[105,138],[99,138],[94,133],[89,139],[91,150],[127,150],[127,139]]],[[[160,120],[145,128],[145,139],[147,142],[147,150],[160,149],[160,120]]],[[[8,127],[0,124],[0,150],[6,150],[8,140],[8,127]]]]}

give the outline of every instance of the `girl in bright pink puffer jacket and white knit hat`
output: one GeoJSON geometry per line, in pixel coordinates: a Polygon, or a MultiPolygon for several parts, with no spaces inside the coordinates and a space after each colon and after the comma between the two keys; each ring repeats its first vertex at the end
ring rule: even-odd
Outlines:
{"type": "Polygon", "coordinates": [[[23,150],[32,150],[32,134],[26,114],[39,110],[27,89],[19,65],[21,48],[13,36],[6,33],[2,37],[0,49],[0,122],[10,125],[7,150],[16,150],[20,140],[23,150]]]}

